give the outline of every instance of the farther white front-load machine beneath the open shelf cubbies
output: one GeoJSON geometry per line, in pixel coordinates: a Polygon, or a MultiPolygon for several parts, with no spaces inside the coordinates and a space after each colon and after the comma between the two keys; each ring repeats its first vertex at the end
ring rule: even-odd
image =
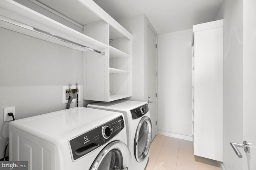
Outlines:
{"type": "Polygon", "coordinates": [[[152,125],[146,102],[117,100],[99,102],[87,107],[124,113],[128,148],[132,154],[132,170],[144,170],[148,164],[152,125]]]}

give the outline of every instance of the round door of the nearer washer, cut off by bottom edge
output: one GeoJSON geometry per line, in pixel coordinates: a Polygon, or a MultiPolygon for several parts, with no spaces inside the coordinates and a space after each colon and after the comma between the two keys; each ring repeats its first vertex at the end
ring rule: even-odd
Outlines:
{"type": "Polygon", "coordinates": [[[90,170],[128,170],[131,154],[122,141],[109,143],[94,160],[90,170]]]}

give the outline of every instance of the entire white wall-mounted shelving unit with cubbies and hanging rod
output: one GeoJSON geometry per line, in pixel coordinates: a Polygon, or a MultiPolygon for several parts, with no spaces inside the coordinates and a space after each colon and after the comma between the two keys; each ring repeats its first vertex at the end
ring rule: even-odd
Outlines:
{"type": "Polygon", "coordinates": [[[84,52],[84,100],[132,96],[132,35],[92,0],[1,0],[0,27],[84,52]]]}

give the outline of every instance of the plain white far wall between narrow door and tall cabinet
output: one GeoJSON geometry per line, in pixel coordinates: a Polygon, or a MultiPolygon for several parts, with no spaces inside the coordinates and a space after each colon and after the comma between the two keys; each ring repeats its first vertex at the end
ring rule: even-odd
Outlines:
{"type": "Polygon", "coordinates": [[[192,29],[158,35],[158,133],[192,140],[192,29]]]}

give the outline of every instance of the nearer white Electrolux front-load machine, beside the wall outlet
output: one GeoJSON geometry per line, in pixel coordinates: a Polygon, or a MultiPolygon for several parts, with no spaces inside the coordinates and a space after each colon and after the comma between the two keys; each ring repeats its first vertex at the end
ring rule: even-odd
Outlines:
{"type": "Polygon", "coordinates": [[[122,113],[74,107],[9,124],[10,160],[29,170],[130,170],[122,113]]]}

